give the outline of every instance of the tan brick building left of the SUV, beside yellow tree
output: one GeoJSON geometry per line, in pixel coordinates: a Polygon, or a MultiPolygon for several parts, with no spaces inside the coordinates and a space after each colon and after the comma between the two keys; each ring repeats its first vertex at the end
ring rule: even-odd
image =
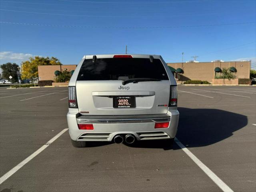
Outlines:
{"type": "Polygon", "coordinates": [[[68,70],[72,71],[76,69],[77,65],[40,65],[38,66],[39,80],[54,80],[55,71],[68,70]]]}

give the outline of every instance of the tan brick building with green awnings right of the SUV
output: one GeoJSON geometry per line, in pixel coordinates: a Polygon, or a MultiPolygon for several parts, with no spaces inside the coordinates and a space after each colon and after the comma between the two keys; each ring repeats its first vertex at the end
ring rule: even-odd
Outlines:
{"type": "Polygon", "coordinates": [[[234,70],[236,78],[250,78],[250,64],[250,61],[167,63],[175,69],[172,72],[178,82],[186,80],[212,82],[215,76],[221,74],[222,68],[234,70]]]}

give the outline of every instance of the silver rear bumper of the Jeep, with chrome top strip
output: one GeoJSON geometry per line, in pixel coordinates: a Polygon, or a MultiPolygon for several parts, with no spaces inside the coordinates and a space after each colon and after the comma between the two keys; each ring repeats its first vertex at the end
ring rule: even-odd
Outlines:
{"type": "Polygon", "coordinates": [[[80,116],[68,112],[70,138],[77,141],[112,141],[116,134],[133,134],[137,140],[174,138],[177,132],[179,112],[169,110],[167,114],[80,116]],[[168,128],[154,128],[155,122],[170,122],[168,128]],[[78,124],[93,124],[94,130],[79,130],[78,124]]]}

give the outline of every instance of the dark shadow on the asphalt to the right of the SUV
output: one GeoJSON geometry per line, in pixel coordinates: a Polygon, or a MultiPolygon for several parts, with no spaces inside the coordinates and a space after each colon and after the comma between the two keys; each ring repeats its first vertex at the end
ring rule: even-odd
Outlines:
{"type": "Polygon", "coordinates": [[[178,108],[176,137],[187,148],[220,142],[248,124],[247,116],[219,109],[178,108]]]}

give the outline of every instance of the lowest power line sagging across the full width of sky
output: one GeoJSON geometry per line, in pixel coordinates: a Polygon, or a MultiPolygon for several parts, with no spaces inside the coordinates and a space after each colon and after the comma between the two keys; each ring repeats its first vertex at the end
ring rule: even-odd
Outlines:
{"type": "MultiPolygon", "coordinates": [[[[123,26],[82,26],[82,25],[52,25],[52,24],[32,24],[32,23],[16,23],[16,22],[3,22],[2,24],[17,24],[29,26],[50,26],[50,27],[68,27],[68,28],[109,28],[109,29],[164,29],[164,28],[190,28],[190,27],[210,27],[210,26],[227,26],[227,25],[240,25],[240,24],[253,24],[256,22],[243,22],[243,23],[229,23],[229,24],[211,24],[211,25],[194,25],[194,26],[156,26],[156,27],[123,27],[123,26]]],[[[251,42],[252,43],[252,42],[251,42]]]]}

